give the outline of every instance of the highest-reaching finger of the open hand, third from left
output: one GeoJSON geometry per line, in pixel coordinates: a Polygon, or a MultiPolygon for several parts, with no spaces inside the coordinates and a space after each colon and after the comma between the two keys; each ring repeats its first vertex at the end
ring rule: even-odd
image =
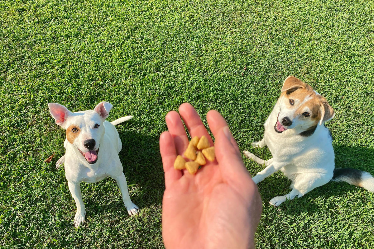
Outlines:
{"type": "Polygon", "coordinates": [[[195,108],[190,103],[183,103],[179,107],[179,113],[181,114],[184,124],[191,135],[191,138],[198,136],[205,136],[208,138],[209,143],[213,146],[213,140],[205,128],[205,125],[201,121],[199,114],[197,114],[195,108]]]}

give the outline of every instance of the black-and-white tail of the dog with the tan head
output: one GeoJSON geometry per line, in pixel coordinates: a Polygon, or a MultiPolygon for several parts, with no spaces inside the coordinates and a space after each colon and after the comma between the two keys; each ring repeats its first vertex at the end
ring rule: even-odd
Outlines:
{"type": "Polygon", "coordinates": [[[370,192],[374,192],[374,177],[370,173],[358,169],[334,169],[334,176],[331,181],[345,181],[346,183],[363,187],[370,192]]]}

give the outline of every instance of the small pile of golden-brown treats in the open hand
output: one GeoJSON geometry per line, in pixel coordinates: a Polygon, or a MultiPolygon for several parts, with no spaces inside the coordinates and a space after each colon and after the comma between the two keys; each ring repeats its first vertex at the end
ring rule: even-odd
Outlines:
{"type": "Polygon", "coordinates": [[[183,155],[193,161],[186,162],[181,155],[178,155],[174,162],[174,168],[187,169],[190,174],[195,174],[199,166],[206,164],[205,158],[211,162],[215,159],[214,146],[209,147],[209,145],[208,138],[205,136],[200,139],[199,137],[192,138],[183,155]]]}

